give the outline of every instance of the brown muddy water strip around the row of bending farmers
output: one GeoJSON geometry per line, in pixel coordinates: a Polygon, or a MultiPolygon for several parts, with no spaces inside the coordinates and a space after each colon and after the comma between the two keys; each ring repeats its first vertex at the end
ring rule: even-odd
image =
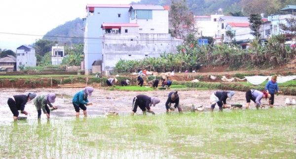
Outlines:
{"type": "MultiPolygon", "coordinates": [[[[74,88],[63,88],[63,89],[1,89],[0,93],[0,120],[1,121],[11,121],[12,113],[7,105],[7,99],[11,95],[22,95],[26,92],[35,92],[37,95],[48,94],[54,92],[57,95],[56,102],[53,104],[54,106],[58,106],[59,109],[51,112],[51,118],[65,118],[65,117],[74,117],[75,110],[72,104],[72,97],[77,92],[82,90],[74,89],[74,88]]],[[[148,91],[148,92],[125,92],[125,91],[109,91],[105,89],[95,89],[92,96],[89,97],[89,101],[93,103],[93,105],[87,106],[87,113],[89,116],[98,116],[105,115],[105,113],[110,110],[116,111],[119,115],[128,114],[132,110],[132,101],[135,95],[144,94],[148,96],[156,96],[160,99],[160,103],[155,107],[152,107],[152,110],[156,113],[165,113],[165,102],[167,100],[167,95],[175,90],[166,90],[166,91],[148,91]]],[[[179,90],[178,94],[180,96],[180,104],[183,107],[184,111],[189,111],[191,105],[201,105],[203,104],[205,107],[205,111],[210,109],[209,98],[210,95],[215,90],[190,90],[184,91],[179,90]]],[[[285,106],[286,98],[295,98],[295,96],[289,95],[275,95],[275,108],[285,106]]],[[[268,100],[261,100],[262,104],[267,105],[268,100]]],[[[227,100],[227,104],[236,104],[241,103],[243,107],[246,104],[245,92],[235,92],[235,95],[232,97],[232,100],[227,100]]],[[[255,104],[251,102],[251,109],[255,109],[255,104]]],[[[218,111],[218,106],[216,106],[215,110],[218,111]]],[[[267,109],[267,107],[265,108],[267,109]]],[[[28,119],[36,119],[37,111],[33,101],[27,103],[25,110],[29,113],[28,119]]],[[[225,109],[224,111],[230,111],[229,109],[225,109]]],[[[174,113],[178,113],[175,111],[174,113]]],[[[137,114],[142,114],[140,108],[138,108],[137,114]]],[[[80,111],[80,115],[83,115],[82,111],[80,111]]],[[[25,116],[20,114],[20,116],[25,116]]],[[[41,118],[46,118],[46,115],[41,115],[41,118]]]]}

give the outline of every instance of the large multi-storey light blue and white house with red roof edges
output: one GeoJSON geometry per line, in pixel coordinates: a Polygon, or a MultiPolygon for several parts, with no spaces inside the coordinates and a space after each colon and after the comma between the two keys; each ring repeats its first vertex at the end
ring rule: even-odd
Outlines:
{"type": "Polygon", "coordinates": [[[168,33],[168,9],[157,5],[87,4],[83,18],[85,74],[92,72],[94,64],[102,64],[102,70],[96,71],[112,70],[120,59],[176,53],[176,46],[183,40],[168,33]]]}

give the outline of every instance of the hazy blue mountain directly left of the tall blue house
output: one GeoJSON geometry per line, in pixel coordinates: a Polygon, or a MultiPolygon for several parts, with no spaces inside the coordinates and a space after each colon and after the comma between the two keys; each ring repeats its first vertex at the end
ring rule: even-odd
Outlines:
{"type": "Polygon", "coordinates": [[[47,32],[42,39],[56,40],[67,45],[83,44],[83,30],[81,28],[83,28],[83,20],[76,18],[47,32]]]}

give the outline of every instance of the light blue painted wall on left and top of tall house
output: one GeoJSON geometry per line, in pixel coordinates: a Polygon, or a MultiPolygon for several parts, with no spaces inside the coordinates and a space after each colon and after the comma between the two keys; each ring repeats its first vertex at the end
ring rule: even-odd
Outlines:
{"type": "Polygon", "coordinates": [[[84,62],[85,75],[89,75],[92,63],[102,60],[102,38],[104,31],[102,23],[129,23],[129,8],[104,8],[95,7],[94,15],[87,14],[84,28],[84,62]],[[100,13],[100,14],[98,14],[100,13]],[[120,18],[118,14],[121,14],[120,18]]]}

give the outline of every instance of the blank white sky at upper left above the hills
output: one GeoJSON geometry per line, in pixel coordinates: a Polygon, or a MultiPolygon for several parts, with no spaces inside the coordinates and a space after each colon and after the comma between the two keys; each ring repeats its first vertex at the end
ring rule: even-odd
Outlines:
{"type": "Polygon", "coordinates": [[[129,4],[140,0],[0,0],[0,49],[33,44],[65,22],[82,18],[86,4],[129,4]]]}

